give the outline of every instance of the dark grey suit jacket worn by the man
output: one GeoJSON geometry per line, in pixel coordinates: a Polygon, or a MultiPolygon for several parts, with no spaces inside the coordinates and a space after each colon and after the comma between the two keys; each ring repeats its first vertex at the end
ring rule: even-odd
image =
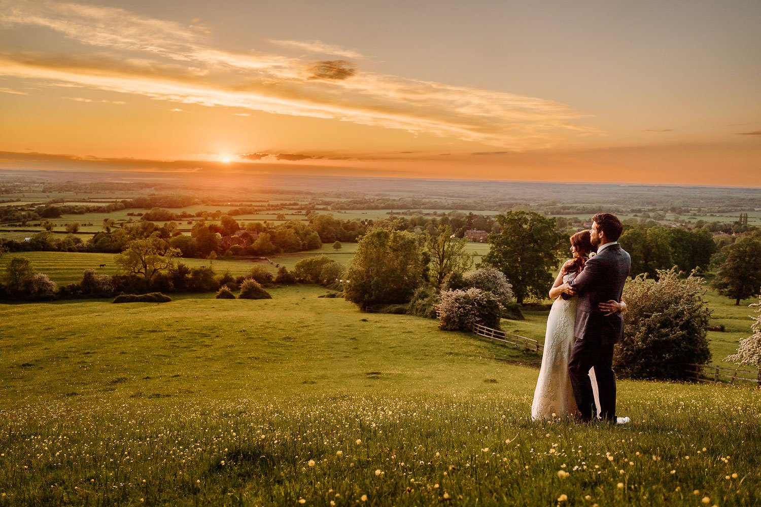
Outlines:
{"type": "Polygon", "coordinates": [[[616,243],[590,258],[570,286],[578,296],[574,335],[577,339],[600,344],[614,344],[623,337],[621,312],[604,315],[597,303],[621,300],[623,285],[629,276],[632,259],[616,243]]]}

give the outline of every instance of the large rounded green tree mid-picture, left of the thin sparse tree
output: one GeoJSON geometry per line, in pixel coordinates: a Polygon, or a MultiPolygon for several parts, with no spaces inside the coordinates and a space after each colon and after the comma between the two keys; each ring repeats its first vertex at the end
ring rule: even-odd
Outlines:
{"type": "Polygon", "coordinates": [[[357,245],[345,272],[345,299],[361,309],[407,303],[422,282],[422,255],[412,233],[376,228],[357,245]]]}

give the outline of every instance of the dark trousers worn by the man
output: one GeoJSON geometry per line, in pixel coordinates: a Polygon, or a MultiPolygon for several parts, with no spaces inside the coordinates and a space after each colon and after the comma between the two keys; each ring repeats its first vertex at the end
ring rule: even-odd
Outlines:
{"type": "Polygon", "coordinates": [[[597,391],[600,395],[600,416],[603,420],[616,418],[616,373],[613,372],[613,344],[593,343],[589,340],[575,341],[568,361],[573,395],[583,420],[597,416],[594,406],[592,382],[589,370],[594,368],[597,391]]]}

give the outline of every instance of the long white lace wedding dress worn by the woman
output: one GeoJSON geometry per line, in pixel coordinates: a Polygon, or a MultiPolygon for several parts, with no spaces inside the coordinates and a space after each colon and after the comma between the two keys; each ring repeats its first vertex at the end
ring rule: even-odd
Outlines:
{"type": "MultiPolygon", "coordinates": [[[[566,274],[563,281],[573,280],[574,277],[575,274],[566,274]]],[[[544,335],[542,367],[531,404],[531,419],[533,420],[568,417],[576,412],[576,401],[573,397],[571,379],[568,376],[568,359],[574,343],[573,328],[577,305],[578,298],[559,297],[555,299],[552,309],[549,310],[547,330],[544,335]]],[[[589,376],[594,391],[594,402],[597,404],[597,414],[600,414],[594,369],[590,370],[589,376]]]]}

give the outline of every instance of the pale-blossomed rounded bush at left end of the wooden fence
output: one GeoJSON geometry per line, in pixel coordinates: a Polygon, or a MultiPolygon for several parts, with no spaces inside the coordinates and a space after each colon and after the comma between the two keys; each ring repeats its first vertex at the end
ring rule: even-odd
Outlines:
{"type": "Polygon", "coordinates": [[[436,309],[438,327],[447,331],[470,331],[476,324],[499,328],[501,306],[497,297],[485,290],[446,290],[436,309]]]}

